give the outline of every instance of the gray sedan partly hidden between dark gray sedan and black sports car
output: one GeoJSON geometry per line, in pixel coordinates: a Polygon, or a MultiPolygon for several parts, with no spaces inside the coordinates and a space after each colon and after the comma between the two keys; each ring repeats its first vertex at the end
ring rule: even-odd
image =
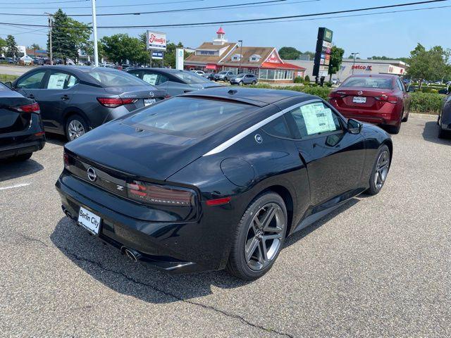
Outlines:
{"type": "Polygon", "coordinates": [[[177,96],[194,90],[218,87],[218,84],[187,70],[170,68],[129,68],[127,73],[164,89],[169,96],[177,96]]]}

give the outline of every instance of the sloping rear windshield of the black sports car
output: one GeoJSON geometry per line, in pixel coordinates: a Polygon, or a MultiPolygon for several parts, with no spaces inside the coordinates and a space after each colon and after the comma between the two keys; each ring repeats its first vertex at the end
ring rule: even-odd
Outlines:
{"type": "Polygon", "coordinates": [[[183,137],[197,137],[232,123],[238,115],[249,114],[257,107],[217,99],[174,97],[125,119],[132,127],[183,137]]]}

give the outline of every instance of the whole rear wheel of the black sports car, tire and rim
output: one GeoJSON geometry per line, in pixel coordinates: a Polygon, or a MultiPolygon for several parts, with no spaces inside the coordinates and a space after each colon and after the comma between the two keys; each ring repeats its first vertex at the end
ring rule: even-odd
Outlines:
{"type": "Polygon", "coordinates": [[[287,208],[273,192],[257,196],[237,225],[227,270],[242,280],[255,280],[271,269],[287,231],[287,208]]]}

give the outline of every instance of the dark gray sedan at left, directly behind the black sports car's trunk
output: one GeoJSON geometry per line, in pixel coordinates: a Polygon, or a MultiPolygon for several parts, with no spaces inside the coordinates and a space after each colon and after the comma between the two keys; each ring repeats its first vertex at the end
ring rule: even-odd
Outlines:
{"type": "Polygon", "coordinates": [[[130,74],[102,67],[44,66],[8,84],[39,103],[46,132],[69,141],[166,96],[130,74]]]}

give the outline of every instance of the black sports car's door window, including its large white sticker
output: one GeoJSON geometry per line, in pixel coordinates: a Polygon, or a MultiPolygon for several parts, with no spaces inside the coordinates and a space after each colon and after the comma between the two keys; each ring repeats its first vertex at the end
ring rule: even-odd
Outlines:
{"type": "Polygon", "coordinates": [[[288,113],[298,138],[342,130],[338,115],[323,102],[305,104],[288,113]]]}

